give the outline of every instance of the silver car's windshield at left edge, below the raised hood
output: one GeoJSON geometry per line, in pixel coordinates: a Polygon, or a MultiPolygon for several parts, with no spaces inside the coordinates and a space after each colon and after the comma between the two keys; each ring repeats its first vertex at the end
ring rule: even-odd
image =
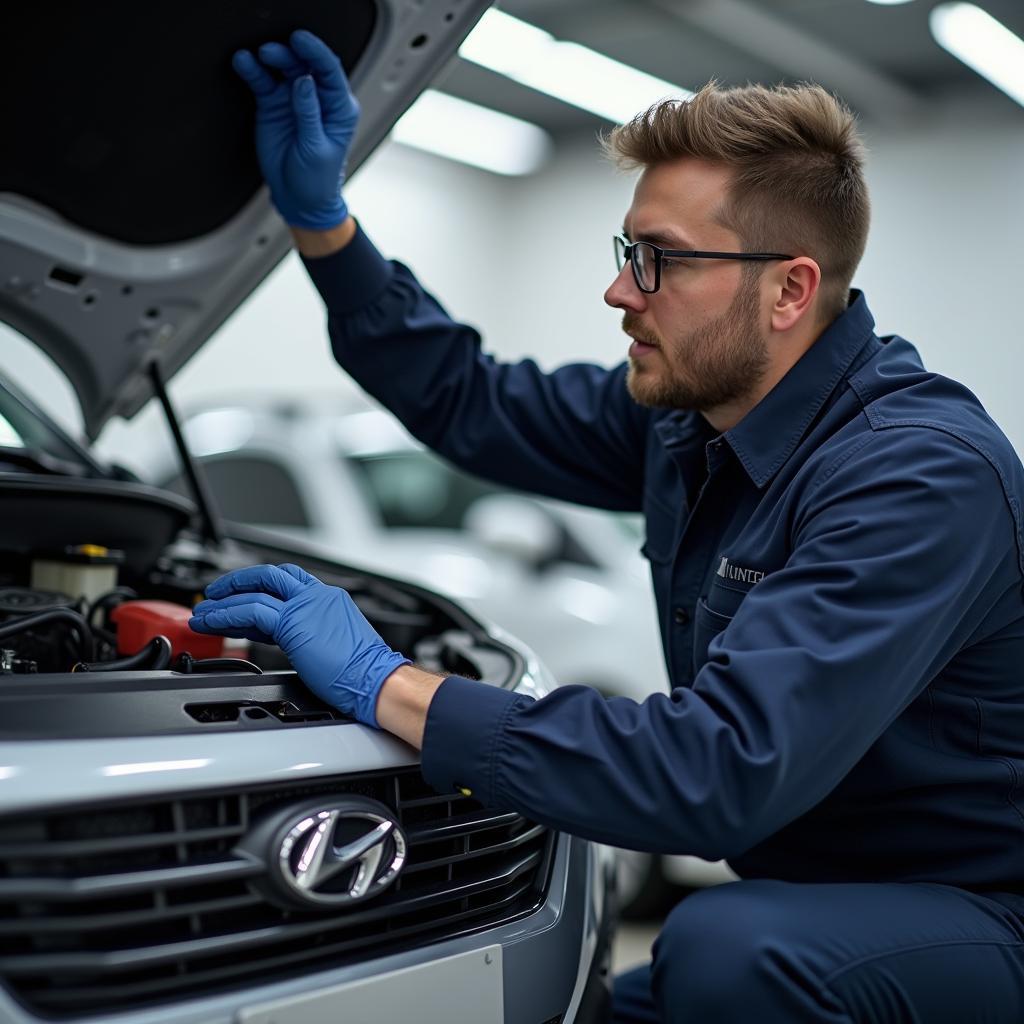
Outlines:
{"type": "Polygon", "coordinates": [[[86,451],[0,378],[0,472],[105,475],[86,451]]]}

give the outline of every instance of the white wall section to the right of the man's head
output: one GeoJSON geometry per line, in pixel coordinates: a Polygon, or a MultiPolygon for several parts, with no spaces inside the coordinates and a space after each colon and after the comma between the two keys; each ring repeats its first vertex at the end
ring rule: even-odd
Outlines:
{"type": "Polygon", "coordinates": [[[1024,111],[951,111],[868,140],[873,217],[856,284],[878,330],[974,390],[1024,456],[1024,111]]]}

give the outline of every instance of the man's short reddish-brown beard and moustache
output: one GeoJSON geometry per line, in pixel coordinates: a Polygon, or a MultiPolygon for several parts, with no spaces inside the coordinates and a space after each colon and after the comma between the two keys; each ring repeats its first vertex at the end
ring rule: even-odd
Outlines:
{"type": "Polygon", "coordinates": [[[768,370],[757,276],[744,275],[729,308],[689,334],[645,335],[630,313],[623,317],[623,330],[639,341],[648,337],[662,352],[660,359],[647,356],[657,360],[652,370],[639,359],[630,362],[626,386],[641,406],[707,412],[750,394],[768,370]]]}

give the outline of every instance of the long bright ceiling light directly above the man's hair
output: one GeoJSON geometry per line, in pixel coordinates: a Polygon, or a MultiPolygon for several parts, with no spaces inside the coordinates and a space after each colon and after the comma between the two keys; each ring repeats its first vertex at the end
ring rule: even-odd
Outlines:
{"type": "Polygon", "coordinates": [[[459,56],[618,124],[659,99],[693,95],[495,8],[463,41],[459,56]]]}

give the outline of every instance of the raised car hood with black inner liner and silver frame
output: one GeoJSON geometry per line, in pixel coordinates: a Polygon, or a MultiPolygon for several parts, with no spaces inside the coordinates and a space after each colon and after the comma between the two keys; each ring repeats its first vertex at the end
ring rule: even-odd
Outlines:
{"type": "Polygon", "coordinates": [[[63,370],[95,437],[171,377],[288,251],[240,47],[297,28],[361,106],[351,173],[489,0],[18,4],[0,63],[0,319],[63,370]]]}

